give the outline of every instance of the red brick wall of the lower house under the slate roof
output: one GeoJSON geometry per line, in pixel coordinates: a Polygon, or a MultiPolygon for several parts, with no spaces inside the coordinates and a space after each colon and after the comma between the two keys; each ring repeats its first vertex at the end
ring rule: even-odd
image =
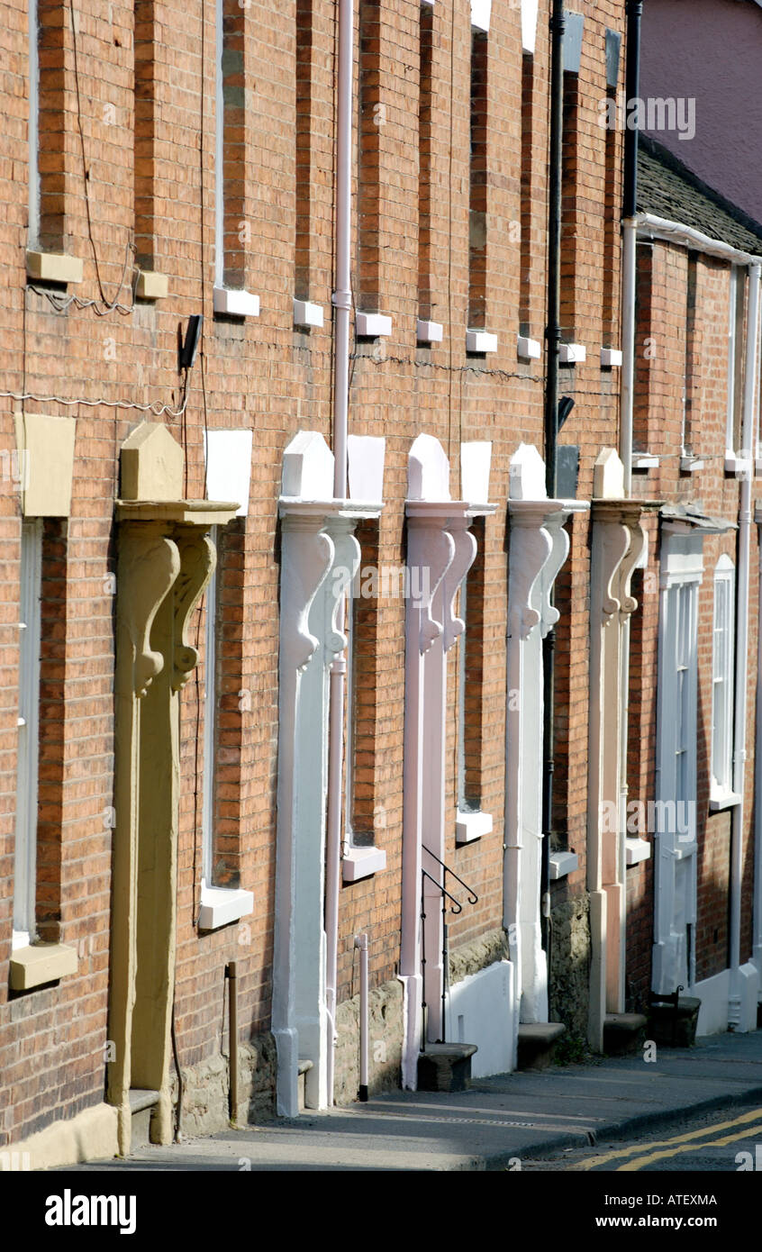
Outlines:
{"type": "MultiPolygon", "coordinates": [[[[637,327],[636,447],[659,456],[658,468],[634,476],[633,493],[664,502],[699,503],[704,512],[738,522],[741,486],[724,473],[729,265],[697,255],[692,336],[686,348],[688,255],[664,243],[639,245],[637,327]],[[649,341],[644,348],[646,341],[649,341]],[[648,356],[646,356],[646,352],[648,356]],[[694,475],[681,473],[682,393],[689,376],[691,446],[703,461],[694,475]]],[[[649,565],[636,586],[642,603],[633,617],[629,724],[629,799],[654,799],[658,647],[658,532],[649,525],[649,565]]],[[[709,811],[712,736],[712,629],[714,566],[727,553],[738,566],[737,532],[707,535],[698,591],[698,916],[696,977],[728,965],[731,810],[709,811]]],[[[743,909],[741,960],[751,955],[753,866],[754,691],[757,667],[758,538],[751,533],[746,790],[743,809],[743,909]]],[[[737,626],[737,622],[736,622],[737,626]]],[[[653,849],[656,853],[656,843],[653,849]]],[[[641,1003],[651,980],[653,943],[653,863],[627,871],[627,977],[641,1003]]]]}

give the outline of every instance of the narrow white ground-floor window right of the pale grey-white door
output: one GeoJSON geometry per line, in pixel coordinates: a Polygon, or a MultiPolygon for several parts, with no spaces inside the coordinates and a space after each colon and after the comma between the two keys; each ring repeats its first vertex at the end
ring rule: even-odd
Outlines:
{"type": "Polygon", "coordinates": [[[724,808],[733,794],[733,636],[736,570],[721,556],[714,570],[714,627],[712,637],[712,784],[713,808],[724,808]]]}

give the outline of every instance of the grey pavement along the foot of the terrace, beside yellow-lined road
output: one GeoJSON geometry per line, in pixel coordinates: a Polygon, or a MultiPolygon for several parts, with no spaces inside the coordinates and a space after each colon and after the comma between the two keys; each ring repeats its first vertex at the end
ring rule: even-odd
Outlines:
{"type": "Polygon", "coordinates": [[[505,1171],[712,1109],[762,1106],[762,1030],[591,1064],[475,1078],[460,1093],[397,1092],[80,1171],[505,1171]]]}

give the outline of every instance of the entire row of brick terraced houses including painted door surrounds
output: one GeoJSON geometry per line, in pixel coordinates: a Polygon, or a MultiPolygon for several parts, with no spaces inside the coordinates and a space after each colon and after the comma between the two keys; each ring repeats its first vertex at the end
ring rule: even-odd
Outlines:
{"type": "Polygon", "coordinates": [[[0,1148],[753,1029],[762,230],[642,4],[1,9],[0,1148]]]}

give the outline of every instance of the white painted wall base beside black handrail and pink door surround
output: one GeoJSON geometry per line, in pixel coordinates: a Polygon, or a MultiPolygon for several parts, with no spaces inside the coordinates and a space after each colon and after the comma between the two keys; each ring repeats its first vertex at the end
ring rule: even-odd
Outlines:
{"type": "Polygon", "coordinates": [[[475,1043],[473,1078],[504,1074],[513,1068],[516,972],[509,960],[469,974],[452,988],[447,1002],[447,1035],[455,1043],[475,1043]]]}

